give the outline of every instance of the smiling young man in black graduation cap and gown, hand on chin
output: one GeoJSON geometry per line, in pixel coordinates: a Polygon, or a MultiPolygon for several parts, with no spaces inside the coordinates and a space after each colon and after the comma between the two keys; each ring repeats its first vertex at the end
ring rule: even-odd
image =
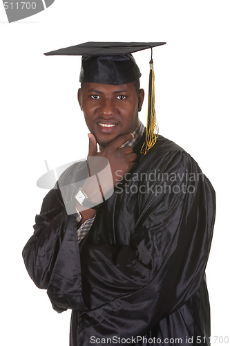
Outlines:
{"type": "Polygon", "coordinates": [[[82,46],[50,55],[84,55],[78,100],[90,130],[88,165],[69,167],[45,197],[23,250],[28,272],[55,310],[73,310],[71,346],[209,345],[213,188],[181,147],[162,136],[150,143],[132,51],[82,46]],[[110,177],[100,175],[100,159],[110,177]]]}

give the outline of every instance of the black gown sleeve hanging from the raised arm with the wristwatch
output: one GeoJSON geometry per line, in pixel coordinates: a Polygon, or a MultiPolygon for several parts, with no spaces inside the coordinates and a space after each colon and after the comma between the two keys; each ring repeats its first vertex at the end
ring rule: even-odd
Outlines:
{"type": "Polygon", "coordinates": [[[47,289],[57,312],[83,309],[76,215],[67,215],[57,185],[44,198],[35,221],[22,253],[30,277],[47,289]]]}

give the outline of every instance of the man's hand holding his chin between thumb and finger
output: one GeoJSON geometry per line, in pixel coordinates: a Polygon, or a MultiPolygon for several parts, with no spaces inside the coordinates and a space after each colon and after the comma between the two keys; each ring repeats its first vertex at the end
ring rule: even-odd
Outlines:
{"type": "MultiPolygon", "coordinates": [[[[113,176],[113,185],[115,186],[126,173],[130,172],[135,167],[137,154],[133,152],[132,147],[121,147],[128,140],[133,139],[133,134],[122,134],[106,145],[101,152],[97,152],[97,141],[93,134],[89,134],[89,149],[88,156],[104,157],[110,163],[113,176]]],[[[96,168],[97,172],[100,167],[96,168]]]]}

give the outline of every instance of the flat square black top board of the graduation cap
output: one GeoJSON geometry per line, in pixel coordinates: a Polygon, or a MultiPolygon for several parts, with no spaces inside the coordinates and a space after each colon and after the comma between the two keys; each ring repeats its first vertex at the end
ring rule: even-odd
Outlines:
{"type": "Polygon", "coordinates": [[[144,49],[162,46],[166,42],[86,42],[61,48],[57,51],[45,53],[45,55],[126,55],[143,51],[144,49]]]}

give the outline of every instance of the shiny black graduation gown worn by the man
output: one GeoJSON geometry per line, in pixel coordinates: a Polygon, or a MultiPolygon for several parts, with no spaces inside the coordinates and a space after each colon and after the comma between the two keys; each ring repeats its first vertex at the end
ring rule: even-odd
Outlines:
{"type": "Polygon", "coordinates": [[[204,271],[214,219],[211,183],[189,154],[159,136],[80,245],[76,215],[66,214],[59,188],[51,190],[23,258],[52,307],[73,310],[70,346],[209,345],[204,271]]]}

